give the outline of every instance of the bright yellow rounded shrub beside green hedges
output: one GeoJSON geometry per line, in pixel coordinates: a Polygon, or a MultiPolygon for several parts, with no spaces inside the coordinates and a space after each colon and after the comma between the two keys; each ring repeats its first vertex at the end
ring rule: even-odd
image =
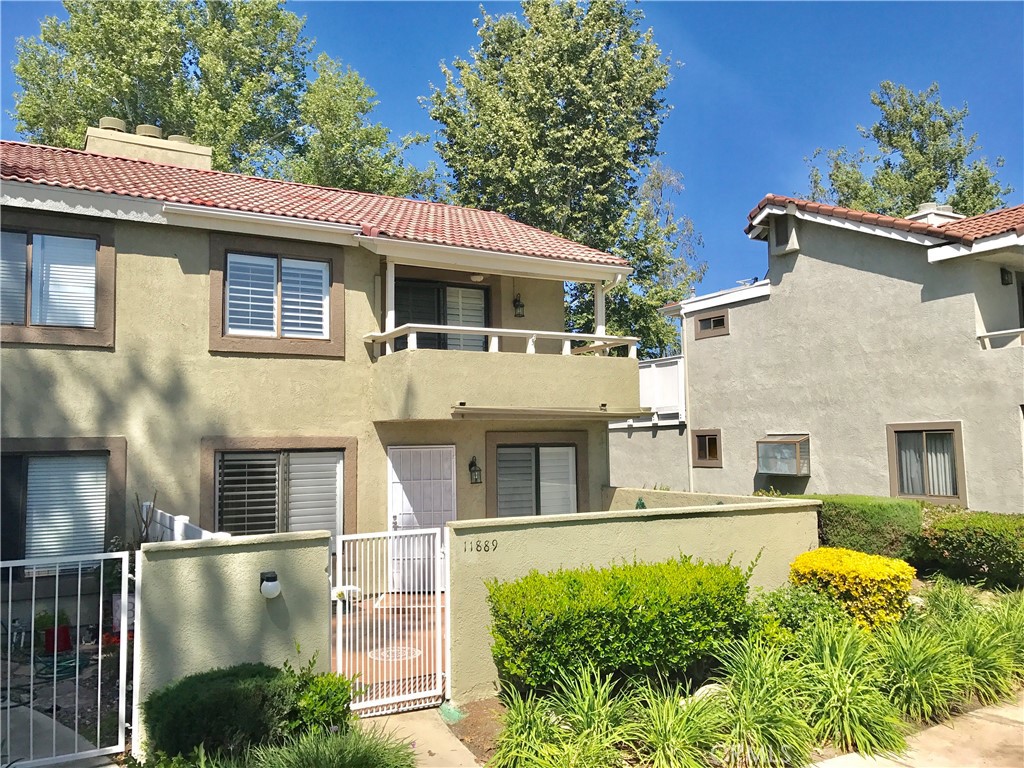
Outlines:
{"type": "Polygon", "coordinates": [[[910,605],[914,569],[902,560],[820,547],[790,564],[790,581],[836,598],[866,629],[898,622],[910,605]]]}

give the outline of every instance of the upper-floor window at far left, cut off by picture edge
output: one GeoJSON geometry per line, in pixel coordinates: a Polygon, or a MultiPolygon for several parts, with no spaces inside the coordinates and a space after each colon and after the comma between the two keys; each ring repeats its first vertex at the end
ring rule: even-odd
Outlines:
{"type": "Polygon", "coordinates": [[[0,233],[0,323],[96,327],[96,240],[0,233]]]}

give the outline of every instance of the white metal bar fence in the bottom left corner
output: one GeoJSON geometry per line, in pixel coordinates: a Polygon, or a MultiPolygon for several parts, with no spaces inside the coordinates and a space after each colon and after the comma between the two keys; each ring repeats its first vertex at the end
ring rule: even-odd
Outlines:
{"type": "Polygon", "coordinates": [[[0,765],[125,749],[127,552],[0,562],[0,765]]]}

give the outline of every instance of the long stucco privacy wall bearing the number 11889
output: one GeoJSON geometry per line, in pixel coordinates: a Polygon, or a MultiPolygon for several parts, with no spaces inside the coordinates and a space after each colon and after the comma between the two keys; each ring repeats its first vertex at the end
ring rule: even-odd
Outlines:
{"type": "MultiPolygon", "coordinates": [[[[623,499],[644,493],[629,489],[623,499]]],[[[680,554],[716,561],[731,557],[745,566],[760,552],[751,583],[776,587],[786,580],[793,558],[817,546],[817,506],[748,499],[744,504],[449,523],[453,700],[497,692],[485,581],[511,581],[535,569],[664,561],[680,554]]]]}

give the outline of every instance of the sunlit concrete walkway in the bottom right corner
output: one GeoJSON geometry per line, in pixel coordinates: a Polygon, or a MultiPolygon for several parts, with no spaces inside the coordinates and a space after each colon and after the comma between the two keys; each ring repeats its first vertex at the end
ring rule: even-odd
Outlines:
{"type": "Polygon", "coordinates": [[[843,755],[818,768],[1022,768],[1024,692],[1010,703],[984,707],[933,725],[907,739],[909,750],[889,760],[843,755]]]}

